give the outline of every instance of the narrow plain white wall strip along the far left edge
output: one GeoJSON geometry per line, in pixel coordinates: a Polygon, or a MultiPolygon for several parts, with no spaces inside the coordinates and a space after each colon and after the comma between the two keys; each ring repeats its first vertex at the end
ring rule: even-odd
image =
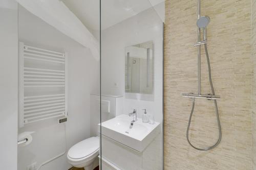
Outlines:
{"type": "Polygon", "coordinates": [[[17,169],[17,4],[0,1],[0,166],[17,169]]]}

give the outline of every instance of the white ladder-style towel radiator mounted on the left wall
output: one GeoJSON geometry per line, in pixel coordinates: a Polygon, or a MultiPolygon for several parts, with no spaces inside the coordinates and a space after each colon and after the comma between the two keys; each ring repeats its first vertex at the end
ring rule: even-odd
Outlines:
{"type": "Polygon", "coordinates": [[[19,127],[67,116],[67,54],[19,42],[19,127]]]}

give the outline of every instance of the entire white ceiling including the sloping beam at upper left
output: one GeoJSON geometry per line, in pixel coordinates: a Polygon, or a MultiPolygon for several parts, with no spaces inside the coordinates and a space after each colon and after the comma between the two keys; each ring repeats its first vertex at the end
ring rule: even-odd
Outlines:
{"type": "MultiPolygon", "coordinates": [[[[99,0],[16,1],[63,34],[90,48],[93,56],[99,58],[99,42],[91,34],[92,30],[99,30],[100,26],[99,0]]],[[[164,16],[164,0],[103,0],[101,29],[109,28],[153,6],[160,17],[164,16]]]]}

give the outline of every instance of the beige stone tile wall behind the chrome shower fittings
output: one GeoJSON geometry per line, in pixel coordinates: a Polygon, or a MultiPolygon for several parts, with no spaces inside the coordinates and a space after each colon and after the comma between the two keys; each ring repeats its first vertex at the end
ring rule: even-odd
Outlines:
{"type": "MultiPolygon", "coordinates": [[[[251,93],[253,78],[251,0],[202,0],[208,25],[208,52],[217,95],[222,140],[211,151],[197,151],[186,141],[191,100],[197,93],[197,0],[167,0],[164,35],[165,169],[252,169],[251,93]]],[[[255,5],[255,3],[254,3],[255,5]]],[[[254,44],[255,46],[255,44],[254,44]]],[[[202,47],[202,93],[210,93],[202,47]]],[[[256,129],[256,128],[255,128],[256,129]]],[[[255,131],[256,132],[256,131],[255,131]]],[[[208,147],[218,139],[214,102],[196,100],[190,140],[208,147]]],[[[254,152],[256,153],[256,152],[254,152]]]]}

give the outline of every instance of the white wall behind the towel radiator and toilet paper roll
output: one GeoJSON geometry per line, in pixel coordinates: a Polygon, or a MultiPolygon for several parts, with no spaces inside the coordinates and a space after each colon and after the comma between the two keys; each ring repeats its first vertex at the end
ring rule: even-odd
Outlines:
{"type": "MultiPolygon", "coordinates": [[[[85,138],[90,137],[90,93],[99,88],[99,62],[88,48],[63,35],[46,22],[19,6],[19,41],[68,53],[68,122],[66,124],[67,150],[85,138]]],[[[30,145],[18,149],[18,169],[37,165],[65,151],[65,126],[57,119],[34,123],[23,131],[35,131],[30,145]]],[[[43,166],[41,169],[65,170],[66,154],[43,166]]]]}

